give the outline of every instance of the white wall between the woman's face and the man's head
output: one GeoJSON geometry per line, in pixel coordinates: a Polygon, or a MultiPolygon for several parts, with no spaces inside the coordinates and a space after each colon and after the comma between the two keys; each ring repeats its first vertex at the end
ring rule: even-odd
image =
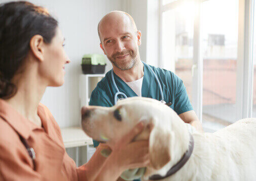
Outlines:
{"type": "MultiPolygon", "coordinates": [[[[0,3],[10,1],[0,0],[0,3]]],[[[99,47],[97,25],[108,12],[126,11],[126,0],[31,0],[59,21],[65,37],[65,50],[71,62],[65,67],[65,83],[61,87],[48,87],[43,96],[45,104],[60,127],[80,125],[79,75],[81,58],[87,53],[103,54],[99,47]]],[[[54,61],[54,60],[53,60],[54,61]]],[[[107,70],[111,65],[107,60],[107,70]]]]}

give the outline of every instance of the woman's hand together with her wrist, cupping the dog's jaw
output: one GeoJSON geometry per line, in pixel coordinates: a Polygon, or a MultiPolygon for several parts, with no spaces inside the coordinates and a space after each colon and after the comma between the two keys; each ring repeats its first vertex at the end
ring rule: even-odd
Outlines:
{"type": "Polygon", "coordinates": [[[149,141],[132,142],[142,129],[143,123],[140,122],[116,143],[99,144],[99,148],[96,150],[97,153],[87,163],[88,173],[90,174],[88,175],[88,180],[117,180],[122,172],[127,169],[149,165],[149,141]],[[105,158],[101,154],[103,149],[111,149],[112,153],[99,168],[99,161],[105,158]],[[99,154],[101,156],[98,156],[99,154]],[[96,167],[97,170],[95,169],[95,164],[98,165],[96,167]]]}

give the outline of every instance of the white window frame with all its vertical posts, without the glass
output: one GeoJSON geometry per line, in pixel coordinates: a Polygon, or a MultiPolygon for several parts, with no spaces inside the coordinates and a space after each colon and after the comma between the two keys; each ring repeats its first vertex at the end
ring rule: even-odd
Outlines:
{"type": "MultiPolygon", "coordinates": [[[[194,0],[196,14],[193,37],[193,89],[192,103],[198,118],[202,122],[203,97],[203,55],[202,55],[202,3],[208,0],[194,0]]],[[[211,0],[213,1],[213,0],[211,0]]],[[[163,12],[177,8],[186,0],[178,0],[162,5],[159,0],[159,66],[163,65],[162,57],[162,17],[163,12]]],[[[253,14],[254,0],[239,0],[238,10],[238,44],[236,71],[236,120],[252,116],[253,91],[253,14]]]]}

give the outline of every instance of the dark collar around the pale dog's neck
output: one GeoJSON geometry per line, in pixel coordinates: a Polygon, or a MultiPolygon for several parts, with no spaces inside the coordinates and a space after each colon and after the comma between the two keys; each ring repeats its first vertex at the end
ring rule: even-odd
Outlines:
{"type": "Polygon", "coordinates": [[[193,138],[192,134],[190,133],[189,149],[184,153],[184,155],[181,157],[181,159],[175,165],[173,165],[169,169],[169,171],[167,171],[165,176],[161,176],[159,174],[155,174],[155,175],[150,176],[150,180],[163,179],[163,178],[166,178],[166,177],[176,173],[189,160],[189,158],[190,158],[190,156],[191,156],[191,154],[193,152],[193,148],[194,148],[194,138],[193,138]]]}

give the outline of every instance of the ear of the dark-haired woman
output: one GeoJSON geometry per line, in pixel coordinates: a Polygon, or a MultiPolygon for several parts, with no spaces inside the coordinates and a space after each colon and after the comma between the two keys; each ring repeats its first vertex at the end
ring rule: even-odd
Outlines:
{"type": "Polygon", "coordinates": [[[36,34],[32,36],[29,42],[30,50],[38,60],[44,61],[44,38],[43,36],[36,34]]]}

